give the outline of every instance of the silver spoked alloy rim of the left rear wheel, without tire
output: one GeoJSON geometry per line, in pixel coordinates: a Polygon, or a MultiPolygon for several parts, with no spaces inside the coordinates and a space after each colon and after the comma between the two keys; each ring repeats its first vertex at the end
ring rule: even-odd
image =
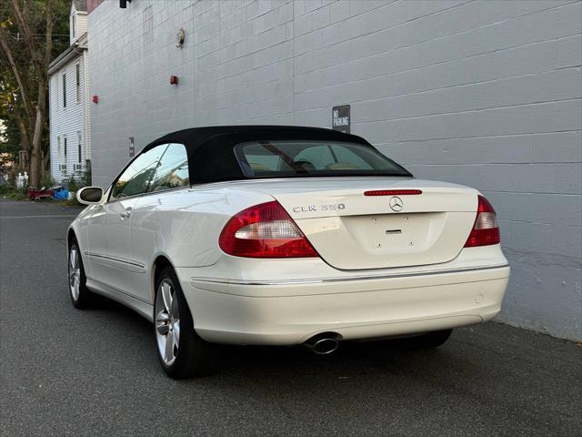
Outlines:
{"type": "Polygon", "coordinates": [[[170,279],[162,279],[157,288],[155,311],[157,349],[166,366],[171,366],[180,344],[180,310],[170,279]]]}

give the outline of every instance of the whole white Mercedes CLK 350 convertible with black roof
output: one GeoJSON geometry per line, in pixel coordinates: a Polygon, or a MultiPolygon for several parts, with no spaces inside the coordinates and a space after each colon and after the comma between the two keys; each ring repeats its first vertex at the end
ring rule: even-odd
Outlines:
{"type": "Polygon", "coordinates": [[[497,315],[509,266],[476,189],[414,178],[365,139],[312,127],[201,127],[145,147],[68,229],[70,294],[154,322],[173,378],[213,343],[444,343],[497,315]]]}

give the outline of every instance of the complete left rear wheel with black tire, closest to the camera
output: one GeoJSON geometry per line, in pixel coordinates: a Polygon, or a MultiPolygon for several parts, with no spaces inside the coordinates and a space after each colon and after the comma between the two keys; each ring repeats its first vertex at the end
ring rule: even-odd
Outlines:
{"type": "Polygon", "coordinates": [[[215,371],[215,346],[202,340],[194,330],[192,312],[176,272],[169,267],[156,280],[154,325],[158,357],[168,376],[184,380],[215,371]]]}

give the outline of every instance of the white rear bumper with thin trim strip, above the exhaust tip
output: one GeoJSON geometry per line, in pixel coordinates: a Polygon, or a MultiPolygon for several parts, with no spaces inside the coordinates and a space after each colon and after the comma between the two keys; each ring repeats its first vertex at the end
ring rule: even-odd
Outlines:
{"type": "Polygon", "coordinates": [[[187,270],[178,277],[196,331],[232,344],[300,344],[326,331],[370,339],[478,323],[497,315],[509,278],[507,265],[278,282],[196,278],[187,270]]]}

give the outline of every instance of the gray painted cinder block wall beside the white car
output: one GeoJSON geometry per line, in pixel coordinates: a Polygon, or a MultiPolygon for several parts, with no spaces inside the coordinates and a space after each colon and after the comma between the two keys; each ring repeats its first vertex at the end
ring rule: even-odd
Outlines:
{"type": "Polygon", "coordinates": [[[580,339],[581,6],[103,2],[88,22],[94,181],[122,168],[128,137],[138,150],[184,127],[330,127],[349,104],[352,132],[417,177],[492,200],[512,266],[500,320],[580,339]]]}

